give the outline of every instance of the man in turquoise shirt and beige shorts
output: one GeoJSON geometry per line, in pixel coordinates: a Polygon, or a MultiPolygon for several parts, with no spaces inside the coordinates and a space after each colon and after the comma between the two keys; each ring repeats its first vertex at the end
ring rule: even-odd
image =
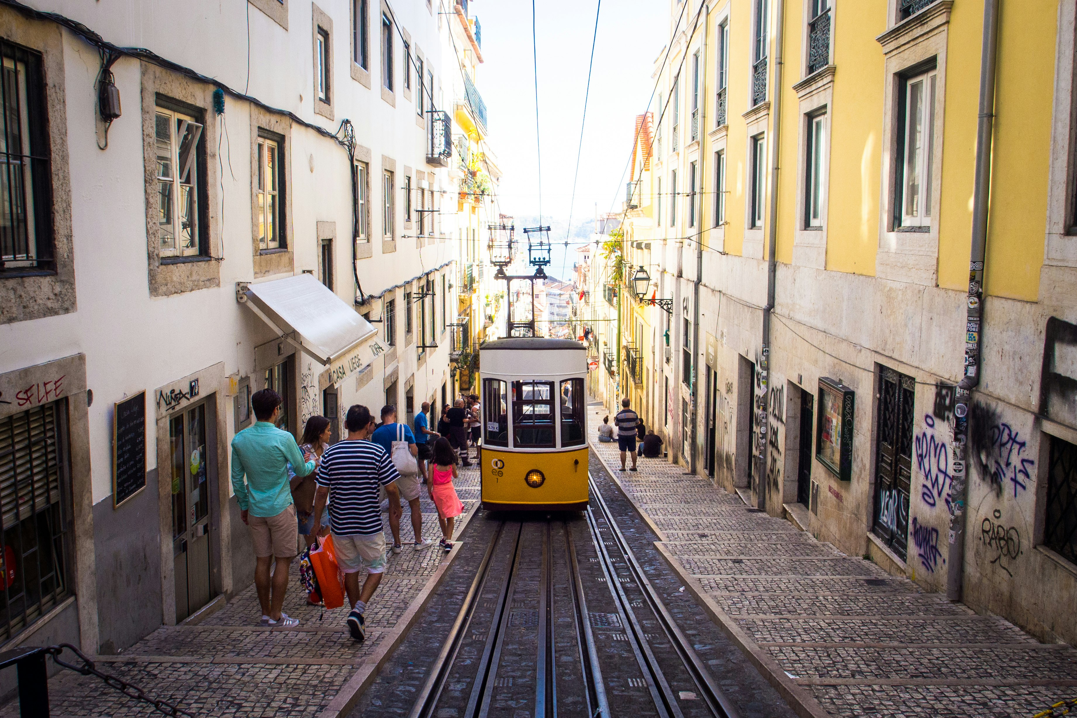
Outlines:
{"type": "Polygon", "coordinates": [[[254,544],[254,586],[262,604],[262,624],[291,628],[299,621],[281,613],[281,607],[299,532],[288,465],[292,464],[296,476],[307,476],[314,470],[314,462],[309,453],[299,451],[295,437],[277,428],[281,404],[280,394],[271,389],[254,392],[251,397],[257,421],[232,439],[232,488],[254,544]]]}

